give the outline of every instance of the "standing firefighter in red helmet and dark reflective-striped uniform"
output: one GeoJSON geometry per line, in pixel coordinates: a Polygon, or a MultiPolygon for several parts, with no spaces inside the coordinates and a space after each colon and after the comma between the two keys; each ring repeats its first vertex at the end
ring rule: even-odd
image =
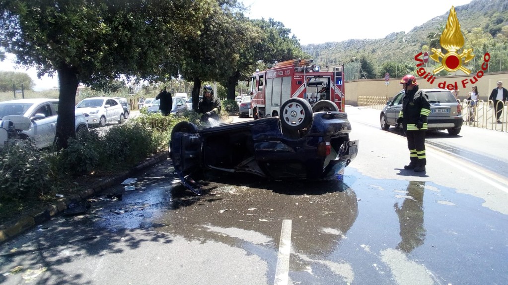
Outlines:
{"type": "Polygon", "coordinates": [[[407,148],[409,149],[409,165],[404,169],[414,169],[424,172],[427,160],[425,158],[425,132],[427,130],[427,116],[430,114],[430,104],[427,94],[418,91],[418,84],[412,75],[406,75],[400,81],[405,94],[402,98],[397,124],[402,124],[406,131],[407,148]]]}

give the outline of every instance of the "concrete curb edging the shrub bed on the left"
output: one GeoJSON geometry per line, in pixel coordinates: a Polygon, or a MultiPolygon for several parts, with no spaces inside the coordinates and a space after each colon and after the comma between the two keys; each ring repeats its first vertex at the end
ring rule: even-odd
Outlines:
{"type": "Polygon", "coordinates": [[[7,228],[0,230],[0,244],[4,241],[23,233],[24,231],[35,227],[36,225],[42,224],[46,221],[49,221],[54,216],[61,213],[63,210],[67,209],[70,201],[82,201],[94,195],[101,193],[103,190],[120,184],[122,181],[127,179],[129,176],[134,173],[150,167],[156,163],[162,162],[168,158],[168,152],[162,152],[153,155],[148,160],[134,166],[130,171],[124,171],[123,173],[119,173],[118,176],[102,181],[96,185],[90,185],[90,188],[87,190],[81,191],[79,194],[74,196],[61,198],[56,201],[56,203],[48,206],[46,210],[42,212],[31,212],[26,216],[21,217],[14,225],[10,225],[7,228]]]}

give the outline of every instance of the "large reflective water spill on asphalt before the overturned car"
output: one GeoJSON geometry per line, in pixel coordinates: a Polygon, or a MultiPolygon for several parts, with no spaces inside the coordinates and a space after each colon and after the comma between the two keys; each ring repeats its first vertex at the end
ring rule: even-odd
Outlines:
{"type": "Polygon", "coordinates": [[[154,175],[141,181],[146,190],[124,193],[125,213],[97,204],[96,223],[111,231],[153,228],[189,242],[220,242],[273,263],[282,220],[291,219],[290,278],[303,283],[315,283],[317,275],[399,284],[504,278],[498,261],[507,258],[507,217],[457,189],[373,179],[346,168],[343,182],[212,176],[204,195],[196,196],[173,176],[154,175]],[[477,270],[468,269],[474,265],[477,270]],[[411,276],[400,273],[405,266],[415,269],[411,276]]]}

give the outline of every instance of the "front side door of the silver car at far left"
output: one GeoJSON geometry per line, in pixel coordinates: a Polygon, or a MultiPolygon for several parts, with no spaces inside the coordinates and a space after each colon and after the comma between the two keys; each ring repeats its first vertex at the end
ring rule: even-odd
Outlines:
{"type": "Polygon", "coordinates": [[[29,115],[33,126],[33,139],[39,149],[51,146],[55,138],[57,117],[50,104],[46,102],[39,105],[29,115]],[[44,117],[36,118],[36,114],[42,114],[44,117]]]}

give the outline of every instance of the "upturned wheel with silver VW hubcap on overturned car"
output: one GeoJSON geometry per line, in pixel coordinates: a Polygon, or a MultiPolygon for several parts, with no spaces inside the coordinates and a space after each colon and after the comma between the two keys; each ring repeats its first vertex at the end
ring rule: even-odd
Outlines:
{"type": "Polygon", "coordinates": [[[294,97],[280,106],[280,123],[289,130],[302,130],[312,124],[312,107],[307,100],[294,97]]]}

